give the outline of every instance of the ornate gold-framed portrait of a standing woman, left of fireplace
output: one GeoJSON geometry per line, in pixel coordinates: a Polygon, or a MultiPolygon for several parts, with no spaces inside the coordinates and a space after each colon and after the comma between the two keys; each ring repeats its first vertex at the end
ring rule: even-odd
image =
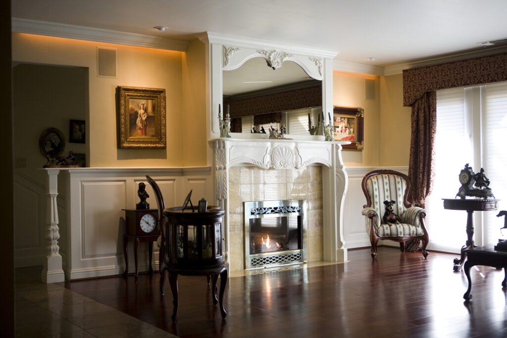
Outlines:
{"type": "Polygon", "coordinates": [[[118,147],[165,148],[165,89],[117,87],[118,147]]]}

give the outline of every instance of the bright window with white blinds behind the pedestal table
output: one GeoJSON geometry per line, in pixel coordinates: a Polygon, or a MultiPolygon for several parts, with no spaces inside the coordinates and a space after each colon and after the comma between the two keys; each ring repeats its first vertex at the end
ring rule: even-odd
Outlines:
{"type": "MultiPolygon", "coordinates": [[[[507,83],[437,92],[436,177],[426,202],[430,247],[458,252],[466,241],[466,212],[445,210],[442,198],[454,198],[465,163],[484,168],[499,210],[507,209],[507,83]],[[503,201],[503,203],[502,203],[503,201]]],[[[474,213],[477,245],[494,245],[503,219],[497,212],[474,213]]]]}

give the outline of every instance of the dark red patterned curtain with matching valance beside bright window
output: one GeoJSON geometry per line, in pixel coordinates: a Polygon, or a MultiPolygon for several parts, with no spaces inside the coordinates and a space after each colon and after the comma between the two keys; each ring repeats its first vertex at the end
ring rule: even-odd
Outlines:
{"type": "Polygon", "coordinates": [[[409,200],[424,207],[434,177],[437,90],[507,81],[507,53],[403,70],[403,105],[412,106],[409,200]]]}

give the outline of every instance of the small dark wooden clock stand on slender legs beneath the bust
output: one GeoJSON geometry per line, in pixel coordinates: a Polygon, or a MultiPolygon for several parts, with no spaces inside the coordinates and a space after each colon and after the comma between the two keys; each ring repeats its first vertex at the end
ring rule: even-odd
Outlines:
{"type": "Polygon", "coordinates": [[[150,262],[149,272],[153,273],[152,268],[152,255],[153,255],[153,242],[160,236],[160,229],[158,224],[158,210],[157,209],[122,209],[125,211],[125,233],[123,235],[123,254],[125,256],[125,271],[124,276],[128,274],[128,241],[134,240],[134,261],[135,273],[137,278],[137,249],[140,242],[148,242],[148,260],[150,262]]]}

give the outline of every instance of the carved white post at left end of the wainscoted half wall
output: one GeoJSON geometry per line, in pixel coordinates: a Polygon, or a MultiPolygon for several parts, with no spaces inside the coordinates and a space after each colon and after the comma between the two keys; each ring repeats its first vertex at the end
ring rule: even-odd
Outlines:
{"type": "Polygon", "coordinates": [[[46,239],[48,240],[47,255],[42,270],[43,283],[63,282],[65,277],[62,270],[62,256],[59,253],[58,239],[60,233],[58,228],[58,205],[56,197],[58,196],[58,169],[46,169],[46,239]]]}

